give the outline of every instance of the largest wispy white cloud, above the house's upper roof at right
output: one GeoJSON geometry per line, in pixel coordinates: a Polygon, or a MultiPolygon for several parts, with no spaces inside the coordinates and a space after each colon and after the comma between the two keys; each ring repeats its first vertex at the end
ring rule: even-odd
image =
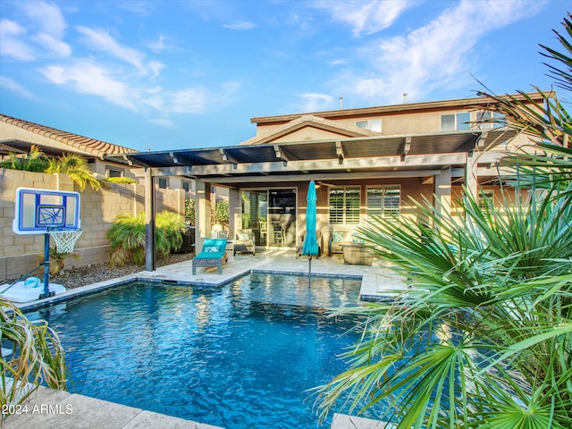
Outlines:
{"type": "Polygon", "coordinates": [[[434,88],[460,87],[478,67],[480,39],[537,8],[529,2],[463,0],[425,27],[363,48],[367,71],[346,71],[337,80],[338,90],[378,103],[400,103],[404,92],[415,100],[434,88]]]}

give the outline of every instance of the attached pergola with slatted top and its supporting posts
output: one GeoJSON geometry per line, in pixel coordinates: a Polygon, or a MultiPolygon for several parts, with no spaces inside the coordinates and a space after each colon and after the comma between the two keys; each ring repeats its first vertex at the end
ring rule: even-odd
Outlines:
{"type": "Polygon", "coordinates": [[[492,176],[502,151],[488,151],[514,137],[507,128],[429,134],[307,140],[229,147],[173,149],[110,156],[145,168],[146,269],[155,264],[155,179],[184,176],[197,183],[197,246],[210,231],[210,189],[230,189],[234,231],[239,189],[288,181],[362,180],[418,177],[433,181],[437,208],[450,209],[453,181],[476,193],[478,178],[492,176]],[[152,243],[151,246],[148,243],[152,243]]]}

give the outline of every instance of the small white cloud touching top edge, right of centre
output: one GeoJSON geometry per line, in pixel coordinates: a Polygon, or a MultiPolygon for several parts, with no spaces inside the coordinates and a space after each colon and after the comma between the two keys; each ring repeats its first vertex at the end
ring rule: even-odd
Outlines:
{"type": "Polygon", "coordinates": [[[354,37],[361,34],[374,34],[391,27],[400,14],[418,4],[412,1],[360,0],[341,2],[323,0],[315,2],[315,7],[332,14],[334,21],[343,22],[351,28],[354,37]]]}

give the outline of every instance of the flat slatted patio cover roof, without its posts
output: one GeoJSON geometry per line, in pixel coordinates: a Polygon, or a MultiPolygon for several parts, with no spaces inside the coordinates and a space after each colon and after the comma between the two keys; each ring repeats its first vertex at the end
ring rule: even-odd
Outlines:
{"type": "Polygon", "coordinates": [[[467,154],[494,147],[516,131],[442,131],[417,135],[177,149],[114,156],[152,167],[154,175],[182,175],[213,183],[299,181],[326,176],[423,176],[447,166],[464,167],[467,154]],[[397,172],[399,170],[399,172],[397,172]],[[302,177],[304,176],[304,177],[302,177]]]}

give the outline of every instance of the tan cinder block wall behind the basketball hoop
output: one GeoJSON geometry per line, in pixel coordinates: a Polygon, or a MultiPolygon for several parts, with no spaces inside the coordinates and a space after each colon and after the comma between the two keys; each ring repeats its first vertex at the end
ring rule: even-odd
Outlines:
{"type": "MultiPolygon", "coordinates": [[[[18,188],[71,190],[80,189],[65,174],[21,172],[0,168],[0,282],[28,273],[44,254],[44,235],[18,235],[12,230],[14,200],[18,188]]],[[[118,214],[139,214],[145,209],[145,187],[104,183],[101,190],[89,187],[80,192],[80,221],[83,234],[66,270],[74,266],[106,263],[109,243],[105,232],[118,214]]],[[[156,189],[156,212],[169,210],[184,215],[186,193],[182,189],[156,189]]],[[[55,243],[52,240],[52,245],[55,243]]]]}

